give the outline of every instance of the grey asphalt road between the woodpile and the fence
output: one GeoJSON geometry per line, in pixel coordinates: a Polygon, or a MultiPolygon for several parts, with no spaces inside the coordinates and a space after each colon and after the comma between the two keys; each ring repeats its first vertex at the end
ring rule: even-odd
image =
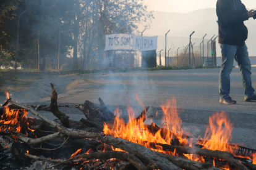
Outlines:
{"type": "MultiPolygon", "coordinates": [[[[204,136],[209,116],[215,112],[225,111],[234,124],[233,141],[245,147],[256,149],[256,103],[244,102],[244,89],[239,68],[231,73],[231,97],[237,100],[236,105],[221,105],[218,95],[218,77],[220,68],[191,70],[139,71],[128,73],[97,73],[64,78],[43,79],[33,84],[33,91],[14,92],[12,97],[18,102],[49,103],[50,81],[55,81],[58,92],[58,103],[83,103],[85,100],[99,103],[101,97],[110,110],[121,107],[126,116],[125,107],[131,105],[140,108],[137,94],[145,104],[150,106],[148,115],[160,125],[163,114],[160,105],[176,99],[176,107],[182,119],[182,127],[192,132],[195,137],[204,136]],[[38,90],[36,90],[38,89],[38,90]],[[40,92],[40,96],[36,92],[40,92]],[[26,94],[30,97],[20,96],[26,94]],[[36,95],[36,96],[35,96],[36,95]],[[155,113],[159,115],[156,117],[155,113]]],[[[256,67],[252,68],[252,82],[256,81],[256,67]]],[[[255,86],[256,88],[256,86],[255,86]]],[[[2,100],[2,98],[0,97],[2,100]]],[[[174,107],[174,106],[171,106],[174,107]]],[[[84,118],[75,110],[68,111],[72,119],[84,118]]],[[[139,112],[139,109],[137,109],[139,112]]],[[[65,112],[65,110],[63,110],[65,112]]],[[[45,113],[49,117],[51,113],[45,113]]]]}

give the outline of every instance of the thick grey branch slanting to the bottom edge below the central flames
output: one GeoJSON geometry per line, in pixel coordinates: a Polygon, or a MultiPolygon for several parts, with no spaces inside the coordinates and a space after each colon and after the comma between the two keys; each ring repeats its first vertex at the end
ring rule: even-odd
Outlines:
{"type": "Polygon", "coordinates": [[[177,167],[171,161],[169,161],[166,156],[162,155],[161,153],[157,153],[153,150],[150,150],[149,148],[146,148],[142,145],[135,144],[132,142],[129,142],[127,140],[106,136],[103,139],[101,139],[101,142],[104,142],[105,144],[112,145],[116,148],[121,148],[121,150],[124,150],[128,153],[133,153],[134,156],[140,159],[143,163],[146,164],[156,164],[158,166],[158,169],[161,170],[174,170],[181,168],[177,167]]]}

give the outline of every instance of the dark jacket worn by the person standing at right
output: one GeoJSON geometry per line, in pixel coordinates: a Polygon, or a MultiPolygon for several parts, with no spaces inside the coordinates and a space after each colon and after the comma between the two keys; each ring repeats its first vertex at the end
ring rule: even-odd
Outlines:
{"type": "Polygon", "coordinates": [[[244,21],[249,19],[248,10],[241,0],[218,0],[216,13],[219,25],[219,43],[243,46],[248,37],[244,21]]]}

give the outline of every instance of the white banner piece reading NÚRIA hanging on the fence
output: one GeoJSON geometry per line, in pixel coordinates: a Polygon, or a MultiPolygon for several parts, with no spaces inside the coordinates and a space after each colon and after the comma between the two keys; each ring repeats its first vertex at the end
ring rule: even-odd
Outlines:
{"type": "Polygon", "coordinates": [[[139,51],[150,51],[157,49],[158,36],[137,36],[134,35],[132,49],[139,51]]]}

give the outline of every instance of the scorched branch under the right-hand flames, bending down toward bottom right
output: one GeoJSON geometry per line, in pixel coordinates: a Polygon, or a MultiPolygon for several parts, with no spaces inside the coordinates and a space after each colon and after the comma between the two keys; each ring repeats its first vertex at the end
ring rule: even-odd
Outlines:
{"type": "Polygon", "coordinates": [[[237,169],[240,170],[249,170],[243,164],[236,161],[234,155],[230,152],[221,152],[219,150],[208,150],[203,148],[192,148],[192,147],[178,147],[172,145],[161,145],[163,150],[168,150],[173,152],[176,149],[177,153],[184,153],[184,154],[194,154],[194,155],[201,155],[201,156],[211,156],[215,158],[219,158],[221,160],[226,160],[228,163],[233,164],[237,169]]]}

